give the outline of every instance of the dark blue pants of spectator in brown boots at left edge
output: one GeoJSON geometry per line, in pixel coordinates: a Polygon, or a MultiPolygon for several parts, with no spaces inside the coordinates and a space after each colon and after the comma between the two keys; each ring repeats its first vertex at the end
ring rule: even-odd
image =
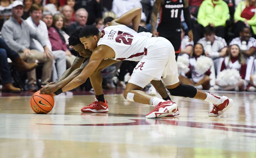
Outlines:
{"type": "Polygon", "coordinates": [[[7,58],[10,58],[12,61],[19,58],[19,54],[11,50],[4,40],[0,38],[0,73],[3,83],[12,82],[11,70],[7,61],[7,58]]]}

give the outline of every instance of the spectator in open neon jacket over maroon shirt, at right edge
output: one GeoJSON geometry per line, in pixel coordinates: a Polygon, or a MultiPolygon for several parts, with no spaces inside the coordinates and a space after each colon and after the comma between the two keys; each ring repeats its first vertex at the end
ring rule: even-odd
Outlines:
{"type": "Polygon", "coordinates": [[[234,14],[235,19],[235,35],[239,36],[239,32],[244,26],[249,26],[252,29],[252,37],[256,37],[256,0],[246,0],[240,2],[234,14]]]}

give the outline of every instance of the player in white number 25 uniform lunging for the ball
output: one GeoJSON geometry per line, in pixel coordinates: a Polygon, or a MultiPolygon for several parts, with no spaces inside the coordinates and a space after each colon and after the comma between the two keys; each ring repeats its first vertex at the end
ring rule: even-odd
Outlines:
{"type": "Polygon", "coordinates": [[[80,75],[57,90],[72,90],[85,80],[107,58],[115,60],[140,61],[124,90],[124,98],[142,104],[155,105],[155,109],[146,118],[161,118],[177,110],[177,104],[147,95],[142,89],[151,80],[160,80],[171,95],[191,97],[213,103],[209,116],[219,116],[233,105],[233,100],[225,96],[215,96],[196,90],[193,86],[182,85],[178,79],[178,68],[172,44],[163,37],[151,37],[152,34],[137,33],[141,8],[136,7],[120,18],[113,20],[102,32],[92,25],[85,26],[79,34],[86,49],[92,51],[89,63],[80,75]],[[133,28],[128,25],[132,21],[133,28]]]}

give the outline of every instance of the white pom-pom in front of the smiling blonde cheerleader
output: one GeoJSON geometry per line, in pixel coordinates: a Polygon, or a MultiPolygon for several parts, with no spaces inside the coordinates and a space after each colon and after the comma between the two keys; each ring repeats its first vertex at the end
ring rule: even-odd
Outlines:
{"type": "Polygon", "coordinates": [[[240,73],[238,70],[236,69],[226,69],[221,71],[218,75],[217,75],[217,79],[216,82],[220,85],[220,86],[233,86],[236,85],[239,81],[239,79],[241,78],[240,73]]]}

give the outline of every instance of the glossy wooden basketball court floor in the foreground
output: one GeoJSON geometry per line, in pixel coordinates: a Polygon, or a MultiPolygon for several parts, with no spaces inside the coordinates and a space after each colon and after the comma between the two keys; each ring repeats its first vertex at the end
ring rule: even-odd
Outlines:
{"type": "Polygon", "coordinates": [[[83,113],[94,95],[54,97],[48,114],[35,114],[30,96],[0,97],[0,158],[255,158],[256,93],[213,92],[234,105],[208,117],[212,105],[172,97],[180,115],[146,119],[153,107],[105,95],[108,113],[83,113]]]}

